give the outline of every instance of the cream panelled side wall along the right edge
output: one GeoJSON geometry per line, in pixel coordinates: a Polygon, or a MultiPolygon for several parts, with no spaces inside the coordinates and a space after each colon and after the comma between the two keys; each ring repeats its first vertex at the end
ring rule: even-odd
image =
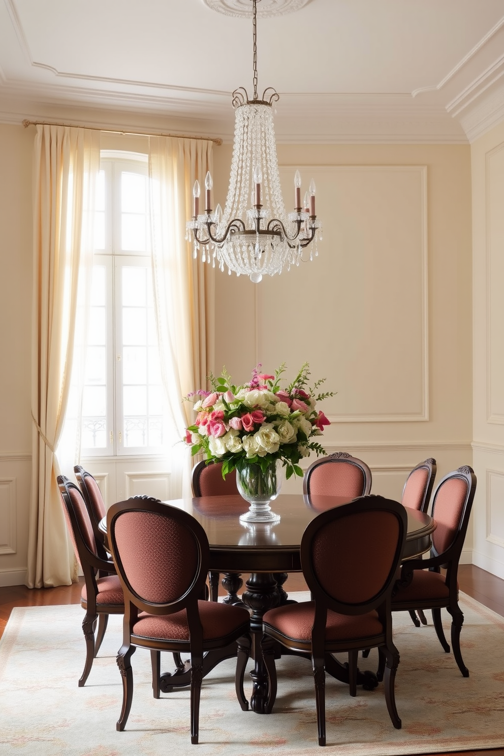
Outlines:
{"type": "Polygon", "coordinates": [[[504,124],[472,144],[474,563],[504,578],[504,124]]]}

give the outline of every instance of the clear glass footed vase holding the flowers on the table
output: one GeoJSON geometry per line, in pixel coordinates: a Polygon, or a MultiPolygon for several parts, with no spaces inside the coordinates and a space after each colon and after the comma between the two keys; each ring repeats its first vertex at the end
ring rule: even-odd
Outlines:
{"type": "Polygon", "coordinates": [[[240,496],[249,502],[249,511],[240,515],[241,522],[279,522],[280,515],[271,511],[270,503],[277,498],[282,485],[277,460],[261,469],[258,464],[243,464],[237,469],[240,496]]]}

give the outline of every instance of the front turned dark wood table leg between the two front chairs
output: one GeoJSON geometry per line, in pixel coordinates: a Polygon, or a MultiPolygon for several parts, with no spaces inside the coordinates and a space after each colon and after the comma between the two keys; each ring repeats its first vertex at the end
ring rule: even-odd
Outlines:
{"type": "Polygon", "coordinates": [[[250,630],[252,632],[252,658],[255,666],[250,673],[252,677],[250,708],[257,714],[265,714],[268,681],[261,652],[262,617],[264,612],[280,603],[280,593],[274,575],[271,572],[253,572],[246,581],[246,590],[242,594],[242,600],[252,611],[250,630]]]}

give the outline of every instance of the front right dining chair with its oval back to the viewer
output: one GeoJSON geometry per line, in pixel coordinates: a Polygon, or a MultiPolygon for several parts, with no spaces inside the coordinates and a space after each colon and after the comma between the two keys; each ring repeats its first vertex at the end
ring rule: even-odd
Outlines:
{"type": "Polygon", "coordinates": [[[385,702],[392,724],[401,727],[394,697],[399,652],[392,640],[391,591],[406,534],[406,510],[381,496],[326,510],[308,524],[301,539],[301,567],[313,600],[277,606],[263,616],[267,712],[277,696],[280,643],[289,653],[311,659],[319,745],[326,745],[325,657],[348,653],[349,689],[355,696],[357,654],[363,646],[377,647],[384,659],[385,702]]]}

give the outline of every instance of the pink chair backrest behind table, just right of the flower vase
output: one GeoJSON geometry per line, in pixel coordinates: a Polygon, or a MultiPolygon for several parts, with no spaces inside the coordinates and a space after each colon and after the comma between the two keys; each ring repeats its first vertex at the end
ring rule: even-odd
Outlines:
{"type": "Polygon", "coordinates": [[[315,460],[305,472],[303,493],[318,496],[366,496],[371,491],[371,470],[347,451],[315,460]]]}

